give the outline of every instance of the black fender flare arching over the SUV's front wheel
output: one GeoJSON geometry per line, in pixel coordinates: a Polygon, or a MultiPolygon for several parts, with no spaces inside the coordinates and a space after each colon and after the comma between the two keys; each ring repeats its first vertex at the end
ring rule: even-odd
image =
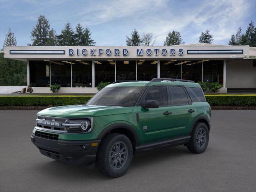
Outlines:
{"type": "Polygon", "coordinates": [[[126,123],[115,123],[115,124],[112,124],[112,125],[104,128],[104,130],[98,135],[97,139],[101,140],[108,132],[110,132],[111,130],[117,129],[117,128],[123,128],[123,129],[129,130],[134,136],[135,146],[139,145],[139,136],[138,136],[137,132],[135,131],[135,128],[126,123]]]}

